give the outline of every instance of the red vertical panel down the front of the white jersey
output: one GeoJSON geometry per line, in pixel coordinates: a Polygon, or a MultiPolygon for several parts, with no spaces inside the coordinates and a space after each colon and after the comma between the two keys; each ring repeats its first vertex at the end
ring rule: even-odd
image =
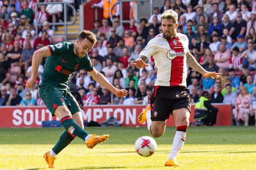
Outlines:
{"type": "MultiPolygon", "coordinates": [[[[179,37],[168,40],[168,42],[169,42],[170,48],[176,53],[184,52],[184,48],[182,43],[180,42],[179,37]],[[176,45],[174,44],[175,40],[176,40],[176,45]]],[[[183,86],[182,85],[183,67],[184,67],[184,56],[177,56],[174,59],[172,59],[170,86],[183,86]]]]}

